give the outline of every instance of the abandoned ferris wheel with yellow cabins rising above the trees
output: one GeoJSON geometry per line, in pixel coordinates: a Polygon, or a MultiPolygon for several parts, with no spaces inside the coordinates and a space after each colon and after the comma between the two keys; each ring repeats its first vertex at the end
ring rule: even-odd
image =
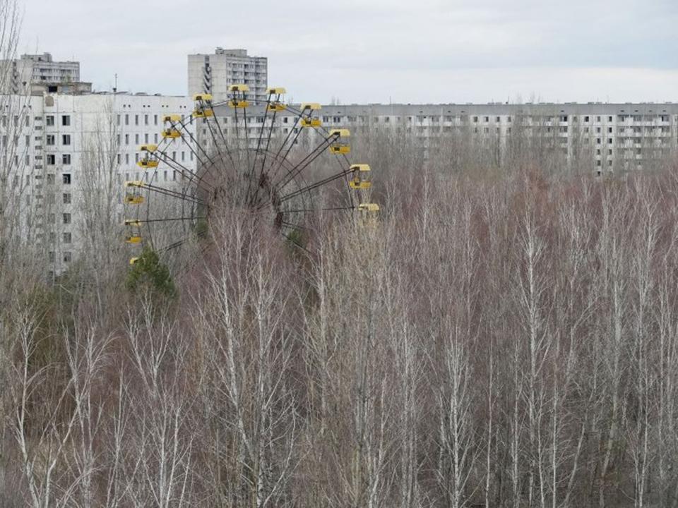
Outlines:
{"type": "Polygon", "coordinates": [[[308,252],[319,214],[379,212],[369,165],[350,162],[350,131],[324,127],[320,104],[286,104],[271,87],[254,106],[247,85],[228,90],[222,102],[195,95],[190,116],[164,116],[162,140],[140,147],[143,176],[124,183],[126,243],[170,253],[236,210],[308,252]]]}

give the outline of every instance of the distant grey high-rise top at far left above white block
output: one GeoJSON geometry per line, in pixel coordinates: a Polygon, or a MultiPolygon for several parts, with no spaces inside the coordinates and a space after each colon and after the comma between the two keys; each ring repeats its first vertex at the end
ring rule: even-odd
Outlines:
{"type": "Polygon", "coordinates": [[[20,59],[4,61],[8,74],[4,93],[23,94],[31,85],[53,85],[80,81],[80,62],[54,61],[52,54],[23,54],[20,59]]]}

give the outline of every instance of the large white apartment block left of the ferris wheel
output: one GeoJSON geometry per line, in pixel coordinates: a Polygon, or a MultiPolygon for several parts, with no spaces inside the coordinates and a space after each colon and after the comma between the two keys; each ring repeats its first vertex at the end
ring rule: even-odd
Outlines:
{"type": "MultiPolygon", "coordinates": [[[[83,255],[86,194],[104,192],[114,174],[114,213],[122,224],[124,181],[148,181],[150,175],[136,164],[139,146],[160,143],[162,117],[189,117],[194,102],[126,92],[33,95],[26,100],[13,118],[0,117],[0,134],[5,131],[4,146],[11,144],[8,135],[16,142],[18,168],[10,181],[26,210],[26,239],[44,252],[54,275],[83,255]]],[[[181,139],[172,143],[172,155],[194,171],[193,152],[181,139]]],[[[177,172],[160,163],[157,181],[172,186],[177,172]]]]}

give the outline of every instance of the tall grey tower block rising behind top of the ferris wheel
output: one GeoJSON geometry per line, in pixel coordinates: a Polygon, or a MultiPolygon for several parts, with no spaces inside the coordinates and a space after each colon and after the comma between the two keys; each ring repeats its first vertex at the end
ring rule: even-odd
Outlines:
{"type": "Polygon", "coordinates": [[[214,54],[189,55],[189,95],[209,93],[213,102],[227,100],[228,87],[249,86],[255,104],[266,102],[268,60],[263,56],[247,56],[246,49],[222,49],[214,54]]]}

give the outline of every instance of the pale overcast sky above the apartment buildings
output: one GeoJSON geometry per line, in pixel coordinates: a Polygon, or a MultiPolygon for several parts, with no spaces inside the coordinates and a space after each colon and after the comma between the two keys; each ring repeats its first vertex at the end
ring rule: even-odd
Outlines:
{"type": "Polygon", "coordinates": [[[186,94],[186,55],[268,57],[328,102],[678,102],[678,0],[23,0],[21,52],[97,90],[186,94]]]}

